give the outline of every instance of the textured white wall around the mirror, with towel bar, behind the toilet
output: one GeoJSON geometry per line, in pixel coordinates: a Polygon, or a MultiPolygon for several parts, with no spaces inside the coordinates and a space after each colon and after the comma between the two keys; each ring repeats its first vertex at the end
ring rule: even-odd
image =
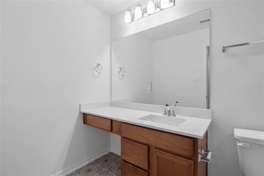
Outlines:
{"type": "Polygon", "coordinates": [[[264,130],[264,46],[221,47],[264,38],[264,1],[176,1],[176,6],[137,22],[125,10],[111,17],[111,40],[210,8],[211,87],[209,176],[241,176],[233,128],[264,130]]]}

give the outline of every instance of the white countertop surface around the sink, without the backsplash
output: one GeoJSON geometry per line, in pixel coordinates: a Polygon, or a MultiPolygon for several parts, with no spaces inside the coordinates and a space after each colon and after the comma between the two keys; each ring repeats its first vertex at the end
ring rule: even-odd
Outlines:
{"type": "Polygon", "coordinates": [[[139,111],[134,109],[126,109],[119,107],[106,106],[96,109],[81,110],[80,112],[91,114],[95,116],[105,117],[107,119],[113,119],[117,121],[127,122],[139,126],[145,126],[149,128],[154,128],[162,131],[167,131],[171,133],[181,134],[185,136],[190,136],[194,138],[202,139],[210,126],[211,119],[203,119],[188,116],[178,116],[175,118],[186,119],[179,126],[166,125],[151,121],[139,120],[138,118],[147,116],[149,114],[161,115],[161,113],[150,112],[150,111],[139,111]]]}

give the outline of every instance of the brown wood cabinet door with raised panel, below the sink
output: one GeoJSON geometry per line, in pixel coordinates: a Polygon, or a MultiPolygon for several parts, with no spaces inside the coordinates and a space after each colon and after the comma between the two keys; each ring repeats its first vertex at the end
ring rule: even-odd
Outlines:
{"type": "Polygon", "coordinates": [[[154,176],[193,176],[193,161],[153,149],[154,176]]]}

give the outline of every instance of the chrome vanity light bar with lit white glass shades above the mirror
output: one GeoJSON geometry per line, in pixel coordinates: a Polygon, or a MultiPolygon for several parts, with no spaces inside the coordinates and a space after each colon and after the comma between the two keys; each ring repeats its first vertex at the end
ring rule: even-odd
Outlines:
{"type": "Polygon", "coordinates": [[[161,0],[156,4],[153,3],[153,0],[149,0],[147,7],[142,7],[140,2],[138,2],[134,13],[131,13],[131,9],[128,7],[125,13],[124,21],[125,23],[132,23],[165,9],[169,9],[173,6],[175,6],[175,0],[161,0]],[[162,9],[162,7],[164,9],[162,9]]]}

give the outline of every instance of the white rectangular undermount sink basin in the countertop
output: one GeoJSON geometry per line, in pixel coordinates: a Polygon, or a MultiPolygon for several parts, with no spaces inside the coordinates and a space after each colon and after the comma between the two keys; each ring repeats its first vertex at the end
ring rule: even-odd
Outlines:
{"type": "Polygon", "coordinates": [[[170,116],[156,116],[152,114],[144,116],[144,117],[140,117],[138,119],[144,120],[144,121],[162,123],[166,125],[172,125],[172,126],[179,126],[184,121],[186,121],[186,119],[178,119],[176,117],[170,117],[170,116]]]}

